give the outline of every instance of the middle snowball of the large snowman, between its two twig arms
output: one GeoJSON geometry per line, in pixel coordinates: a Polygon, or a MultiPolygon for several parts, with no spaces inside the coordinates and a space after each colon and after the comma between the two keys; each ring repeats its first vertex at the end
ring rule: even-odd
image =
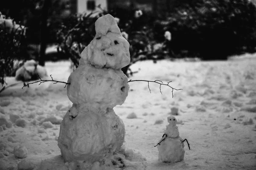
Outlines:
{"type": "Polygon", "coordinates": [[[70,74],[67,96],[74,104],[87,103],[94,108],[122,105],[128,96],[128,78],[121,70],[79,66],[70,74]],[[82,75],[82,76],[81,76],[82,75]]]}

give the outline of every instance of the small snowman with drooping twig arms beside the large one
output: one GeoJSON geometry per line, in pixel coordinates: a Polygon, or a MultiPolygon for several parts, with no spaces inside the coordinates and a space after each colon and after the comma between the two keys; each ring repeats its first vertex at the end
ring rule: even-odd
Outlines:
{"type": "Polygon", "coordinates": [[[178,162],[184,159],[184,141],[180,138],[178,127],[176,126],[177,119],[174,116],[169,116],[169,125],[166,125],[165,134],[157,144],[159,151],[158,160],[162,162],[178,162]]]}

